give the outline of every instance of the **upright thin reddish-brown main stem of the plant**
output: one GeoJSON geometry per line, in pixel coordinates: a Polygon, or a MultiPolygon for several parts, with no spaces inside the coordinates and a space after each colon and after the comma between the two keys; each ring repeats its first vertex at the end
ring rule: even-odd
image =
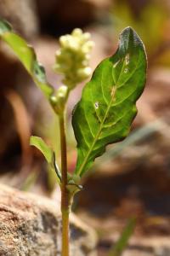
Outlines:
{"type": "Polygon", "coordinates": [[[61,147],[61,213],[62,213],[62,256],[69,256],[69,191],[67,189],[67,157],[65,139],[65,113],[59,114],[59,131],[61,147]]]}

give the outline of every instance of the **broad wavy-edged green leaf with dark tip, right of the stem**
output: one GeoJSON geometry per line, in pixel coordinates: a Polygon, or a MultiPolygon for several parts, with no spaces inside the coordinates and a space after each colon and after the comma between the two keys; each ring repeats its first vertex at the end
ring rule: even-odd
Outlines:
{"type": "Polygon", "coordinates": [[[144,44],[127,27],[115,55],[95,69],[73,113],[78,175],[82,176],[105,152],[107,144],[127,137],[137,113],[136,101],[144,90],[146,67],[144,44]]]}

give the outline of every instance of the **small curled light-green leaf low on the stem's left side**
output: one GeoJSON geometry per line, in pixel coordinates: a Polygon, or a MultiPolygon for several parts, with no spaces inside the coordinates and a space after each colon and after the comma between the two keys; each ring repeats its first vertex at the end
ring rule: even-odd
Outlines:
{"type": "Polygon", "coordinates": [[[51,148],[42,140],[41,137],[31,136],[30,138],[31,146],[38,148],[42,154],[44,155],[45,159],[48,161],[48,164],[51,164],[54,160],[54,153],[51,148]]]}

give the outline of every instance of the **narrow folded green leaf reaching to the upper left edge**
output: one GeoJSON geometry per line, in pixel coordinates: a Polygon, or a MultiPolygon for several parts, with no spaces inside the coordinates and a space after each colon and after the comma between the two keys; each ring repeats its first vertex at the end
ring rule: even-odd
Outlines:
{"type": "Polygon", "coordinates": [[[5,20],[0,20],[0,38],[14,51],[44,95],[48,98],[52,96],[54,88],[48,84],[45,70],[37,61],[34,49],[23,38],[15,34],[5,20]]]}

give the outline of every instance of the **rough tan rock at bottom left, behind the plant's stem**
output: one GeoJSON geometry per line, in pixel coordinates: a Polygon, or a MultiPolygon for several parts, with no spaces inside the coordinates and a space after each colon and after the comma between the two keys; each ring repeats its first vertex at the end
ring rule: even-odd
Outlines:
{"type": "MultiPolygon", "coordinates": [[[[60,255],[59,202],[0,185],[0,255],[60,255]]],[[[96,236],[71,214],[71,255],[94,256],[96,236]]]]}

